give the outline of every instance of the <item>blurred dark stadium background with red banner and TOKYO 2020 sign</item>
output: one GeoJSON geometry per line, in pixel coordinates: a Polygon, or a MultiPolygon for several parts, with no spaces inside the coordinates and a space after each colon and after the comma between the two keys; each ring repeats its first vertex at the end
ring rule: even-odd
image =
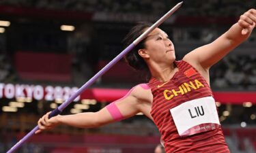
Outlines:
{"type": "MultiPolygon", "coordinates": [[[[0,152],[9,150],[123,50],[136,22],[155,22],[171,0],[1,0],[0,152]]],[[[160,28],[177,59],[227,31],[255,0],[184,1],[160,28]]],[[[212,67],[211,86],[231,152],[256,150],[256,33],[212,67]]],[[[121,98],[141,75],[119,61],[62,114],[96,112],[121,98]]],[[[58,126],[34,135],[20,153],[153,153],[160,135],[138,114],[98,129],[58,126]]]]}

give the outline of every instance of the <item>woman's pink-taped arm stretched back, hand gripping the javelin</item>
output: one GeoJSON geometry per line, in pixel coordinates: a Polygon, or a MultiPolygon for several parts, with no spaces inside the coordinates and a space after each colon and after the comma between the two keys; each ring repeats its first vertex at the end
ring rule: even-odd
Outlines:
{"type": "Polygon", "coordinates": [[[143,114],[148,116],[151,107],[146,104],[148,103],[147,97],[150,97],[147,93],[151,94],[151,92],[145,91],[141,86],[135,86],[125,97],[100,109],[98,112],[87,112],[65,116],[59,115],[50,119],[48,119],[48,115],[50,114],[50,112],[48,112],[38,120],[39,130],[35,133],[53,129],[58,124],[66,124],[80,128],[92,128],[129,118],[139,112],[143,112],[143,114]],[[144,95],[139,93],[140,91],[144,92],[144,95]]]}

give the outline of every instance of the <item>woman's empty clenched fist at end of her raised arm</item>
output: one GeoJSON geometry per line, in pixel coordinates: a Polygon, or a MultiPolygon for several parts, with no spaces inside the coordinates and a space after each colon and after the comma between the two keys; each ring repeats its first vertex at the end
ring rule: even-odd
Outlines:
{"type": "Polygon", "coordinates": [[[243,28],[242,35],[246,35],[253,31],[256,24],[256,10],[251,9],[242,14],[238,20],[238,24],[243,28]]]}

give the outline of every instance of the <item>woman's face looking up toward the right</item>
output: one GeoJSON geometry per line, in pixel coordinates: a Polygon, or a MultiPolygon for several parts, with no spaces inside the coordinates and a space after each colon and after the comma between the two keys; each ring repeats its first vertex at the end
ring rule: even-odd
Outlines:
{"type": "Polygon", "coordinates": [[[155,29],[145,39],[146,58],[156,63],[173,63],[175,60],[175,50],[168,35],[161,29],[155,29]]]}

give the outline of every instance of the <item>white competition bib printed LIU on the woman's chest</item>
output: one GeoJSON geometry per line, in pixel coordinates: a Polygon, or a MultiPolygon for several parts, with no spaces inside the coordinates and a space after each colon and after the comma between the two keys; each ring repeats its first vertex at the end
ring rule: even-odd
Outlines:
{"type": "Polygon", "coordinates": [[[170,112],[181,137],[214,130],[221,125],[213,97],[186,101],[170,112]]]}

